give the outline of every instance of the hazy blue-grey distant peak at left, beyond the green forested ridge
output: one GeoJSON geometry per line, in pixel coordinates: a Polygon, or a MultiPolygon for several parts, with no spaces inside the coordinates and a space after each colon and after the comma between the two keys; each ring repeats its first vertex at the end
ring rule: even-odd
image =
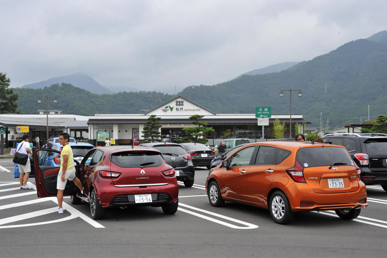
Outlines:
{"type": "Polygon", "coordinates": [[[96,82],[96,80],[92,79],[89,75],[84,73],[74,73],[74,74],[65,75],[62,77],[55,77],[55,78],[45,80],[43,82],[27,84],[22,86],[22,88],[41,89],[53,84],[62,84],[62,83],[72,84],[76,87],[85,89],[87,91],[90,91],[96,94],[114,93],[113,91],[111,91],[110,89],[106,89],[101,84],[96,82]]]}

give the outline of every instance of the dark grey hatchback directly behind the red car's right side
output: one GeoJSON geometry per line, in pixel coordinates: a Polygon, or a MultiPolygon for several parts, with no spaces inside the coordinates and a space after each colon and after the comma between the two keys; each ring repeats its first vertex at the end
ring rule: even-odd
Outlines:
{"type": "Polygon", "coordinates": [[[140,144],[140,146],[152,147],[161,152],[165,162],[176,171],[176,179],[183,181],[186,187],[194,185],[195,168],[191,155],[180,144],[152,142],[140,144]]]}

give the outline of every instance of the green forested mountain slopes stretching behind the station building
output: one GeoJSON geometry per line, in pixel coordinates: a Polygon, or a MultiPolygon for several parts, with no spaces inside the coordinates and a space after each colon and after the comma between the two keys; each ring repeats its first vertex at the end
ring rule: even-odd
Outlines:
{"type": "MultiPolygon", "coordinates": [[[[179,95],[215,113],[253,113],[255,106],[271,106],[272,114],[289,114],[289,92],[279,97],[280,90],[296,89],[293,94],[293,114],[303,114],[315,125],[320,124],[320,112],[330,128],[348,123],[360,123],[387,112],[387,44],[379,32],[372,41],[359,39],[346,43],[325,55],[298,63],[278,73],[243,75],[214,86],[189,86],[179,95]],[[327,94],[324,94],[326,84],[327,94]]],[[[120,92],[92,94],[72,85],[52,85],[45,89],[15,89],[23,113],[44,109],[39,96],[56,96],[57,104],[50,109],[63,113],[143,113],[172,99],[174,95],[160,92],[120,92]]]]}

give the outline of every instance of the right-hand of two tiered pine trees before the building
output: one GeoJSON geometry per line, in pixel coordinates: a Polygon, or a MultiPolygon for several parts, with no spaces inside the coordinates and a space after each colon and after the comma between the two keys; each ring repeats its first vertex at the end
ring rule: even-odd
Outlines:
{"type": "Polygon", "coordinates": [[[212,127],[207,127],[208,123],[204,121],[199,121],[199,119],[203,118],[203,116],[199,114],[194,114],[190,116],[190,120],[194,120],[191,122],[192,125],[197,125],[195,127],[187,127],[183,128],[185,132],[185,137],[179,139],[178,142],[194,142],[199,144],[207,143],[207,139],[204,138],[207,132],[215,131],[212,127]]]}

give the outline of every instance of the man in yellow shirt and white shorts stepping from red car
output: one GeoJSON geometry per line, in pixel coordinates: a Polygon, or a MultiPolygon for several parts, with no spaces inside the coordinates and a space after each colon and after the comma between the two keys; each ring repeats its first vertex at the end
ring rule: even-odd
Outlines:
{"type": "Polygon", "coordinates": [[[68,133],[59,134],[59,143],[63,145],[62,151],[60,152],[60,170],[57,178],[57,198],[58,198],[58,213],[63,213],[63,190],[65,190],[67,180],[73,181],[74,184],[83,191],[80,180],[75,176],[75,167],[73,153],[68,140],[70,135],[68,133]]]}

